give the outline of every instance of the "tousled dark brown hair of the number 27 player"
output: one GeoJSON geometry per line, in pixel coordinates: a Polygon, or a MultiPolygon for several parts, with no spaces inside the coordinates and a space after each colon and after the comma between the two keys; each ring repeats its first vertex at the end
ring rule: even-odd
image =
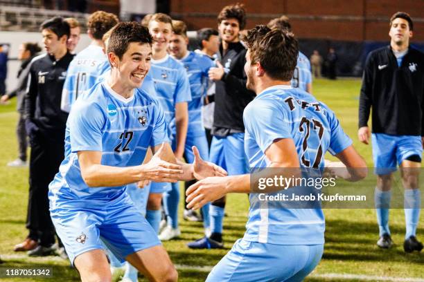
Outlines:
{"type": "Polygon", "coordinates": [[[256,26],[242,37],[249,48],[251,64],[260,62],[272,79],[290,81],[299,55],[299,44],[287,30],[256,26]]]}

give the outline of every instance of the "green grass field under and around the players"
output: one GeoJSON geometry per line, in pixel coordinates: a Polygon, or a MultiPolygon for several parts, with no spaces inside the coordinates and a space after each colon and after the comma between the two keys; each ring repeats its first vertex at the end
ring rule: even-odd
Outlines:
{"type": "MultiPolygon", "coordinates": [[[[346,133],[353,138],[357,151],[372,167],[371,147],[359,144],[356,137],[359,88],[360,81],[357,79],[318,79],[314,82],[315,95],[336,112],[346,133]]],[[[6,167],[6,163],[17,156],[16,120],[14,103],[0,106],[0,256],[5,261],[0,267],[53,267],[55,281],[78,281],[76,270],[69,267],[69,262],[58,257],[32,259],[26,254],[12,252],[13,245],[27,235],[28,169],[6,167]]],[[[209,267],[218,263],[233,242],[245,232],[247,209],[247,196],[229,196],[226,209],[229,216],[224,219],[225,250],[189,250],[185,244],[202,236],[202,225],[180,221],[181,238],[164,243],[177,265],[179,281],[204,281],[209,267]]],[[[378,226],[373,209],[326,209],[325,214],[324,257],[306,281],[424,281],[424,255],[403,252],[403,209],[391,210],[391,232],[396,243],[391,250],[379,250],[376,247],[378,226]]],[[[422,240],[423,218],[421,216],[421,228],[418,229],[418,237],[421,234],[422,240]]],[[[0,277],[0,281],[44,280],[0,277]]]]}

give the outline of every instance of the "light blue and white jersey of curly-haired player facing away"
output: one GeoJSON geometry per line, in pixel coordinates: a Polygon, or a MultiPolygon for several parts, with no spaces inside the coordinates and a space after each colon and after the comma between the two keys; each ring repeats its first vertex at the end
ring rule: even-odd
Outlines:
{"type": "Polygon", "coordinates": [[[63,84],[62,111],[69,113],[72,104],[84,92],[96,84],[96,79],[109,68],[109,61],[100,46],[89,45],[69,64],[63,84]]]}

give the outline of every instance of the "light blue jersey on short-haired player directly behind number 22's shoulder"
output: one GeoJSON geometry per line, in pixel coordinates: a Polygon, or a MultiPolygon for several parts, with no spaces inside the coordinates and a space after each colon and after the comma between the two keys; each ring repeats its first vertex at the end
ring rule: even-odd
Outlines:
{"type": "Polygon", "coordinates": [[[148,76],[152,77],[156,85],[156,98],[164,109],[168,133],[172,136],[176,133],[175,104],[191,101],[187,72],[184,66],[170,55],[159,60],[152,59],[151,62],[148,76]]]}

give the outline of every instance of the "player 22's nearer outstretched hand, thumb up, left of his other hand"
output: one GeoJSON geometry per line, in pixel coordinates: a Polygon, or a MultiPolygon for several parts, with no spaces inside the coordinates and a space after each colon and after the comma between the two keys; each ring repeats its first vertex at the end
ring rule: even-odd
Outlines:
{"type": "Polygon", "coordinates": [[[167,152],[164,146],[165,143],[161,144],[159,150],[157,150],[152,159],[146,164],[142,164],[144,180],[151,180],[154,182],[177,182],[183,174],[182,166],[179,164],[173,164],[164,160],[167,152]]]}

